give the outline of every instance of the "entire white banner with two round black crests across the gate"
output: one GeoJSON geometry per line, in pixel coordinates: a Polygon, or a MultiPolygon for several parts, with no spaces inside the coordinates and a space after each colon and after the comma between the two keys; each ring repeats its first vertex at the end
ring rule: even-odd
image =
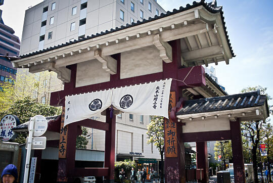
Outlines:
{"type": "Polygon", "coordinates": [[[168,103],[171,80],[165,79],[67,96],[65,98],[64,126],[95,116],[111,105],[125,113],[169,118],[168,103]]]}

